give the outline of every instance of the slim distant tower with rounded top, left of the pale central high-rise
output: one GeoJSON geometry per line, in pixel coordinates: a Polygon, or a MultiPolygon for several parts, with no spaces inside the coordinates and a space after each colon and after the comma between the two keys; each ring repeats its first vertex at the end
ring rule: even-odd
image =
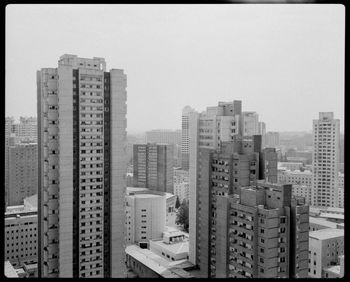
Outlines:
{"type": "Polygon", "coordinates": [[[182,126],[181,126],[181,167],[189,169],[189,116],[194,112],[190,106],[186,106],[182,110],[182,126]]]}

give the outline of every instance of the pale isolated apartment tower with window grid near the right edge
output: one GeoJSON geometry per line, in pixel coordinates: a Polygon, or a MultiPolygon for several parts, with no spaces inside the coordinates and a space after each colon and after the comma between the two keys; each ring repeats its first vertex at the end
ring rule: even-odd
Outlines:
{"type": "Polygon", "coordinates": [[[332,112],[320,112],[313,121],[313,185],[314,206],[338,207],[340,121],[332,112]]]}

